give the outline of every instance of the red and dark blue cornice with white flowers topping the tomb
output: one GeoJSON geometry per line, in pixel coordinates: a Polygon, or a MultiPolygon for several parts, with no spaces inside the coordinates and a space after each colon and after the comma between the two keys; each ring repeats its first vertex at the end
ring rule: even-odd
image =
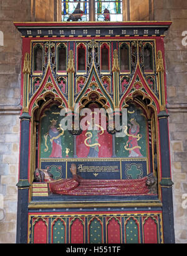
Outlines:
{"type": "Polygon", "coordinates": [[[22,38],[87,36],[163,36],[171,21],[139,22],[66,22],[66,23],[14,23],[22,38]],[[86,28],[86,32],[85,32],[86,28]],[[115,29],[114,29],[115,28],[115,29]],[[82,30],[82,31],[81,31],[82,30]],[[99,31],[99,34],[98,34],[99,31]]]}

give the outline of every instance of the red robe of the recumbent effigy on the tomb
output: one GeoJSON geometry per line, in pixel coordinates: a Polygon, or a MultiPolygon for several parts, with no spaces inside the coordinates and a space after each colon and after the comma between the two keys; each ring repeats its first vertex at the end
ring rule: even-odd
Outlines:
{"type": "Polygon", "coordinates": [[[60,179],[49,182],[51,193],[59,195],[147,195],[147,177],[137,180],[60,179]]]}

